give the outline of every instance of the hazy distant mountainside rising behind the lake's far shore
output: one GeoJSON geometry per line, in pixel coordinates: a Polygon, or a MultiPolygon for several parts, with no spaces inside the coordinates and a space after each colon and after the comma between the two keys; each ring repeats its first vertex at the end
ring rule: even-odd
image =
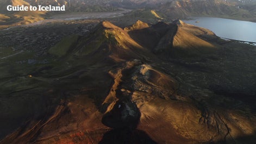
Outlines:
{"type": "Polygon", "coordinates": [[[171,1],[166,4],[161,4],[158,10],[174,19],[189,16],[215,16],[254,21],[256,20],[256,15],[252,11],[254,8],[247,8],[252,4],[255,3],[251,2],[246,4],[240,3],[240,1],[219,0],[186,0],[171,1]]]}

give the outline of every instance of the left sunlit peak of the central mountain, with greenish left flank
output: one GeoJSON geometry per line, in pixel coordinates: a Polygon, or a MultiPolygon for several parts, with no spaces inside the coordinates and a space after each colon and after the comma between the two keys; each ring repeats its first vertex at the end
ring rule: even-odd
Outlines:
{"type": "Polygon", "coordinates": [[[143,51],[136,41],[134,41],[126,31],[115,26],[114,24],[104,21],[93,30],[89,37],[67,37],[64,41],[69,41],[68,47],[54,46],[49,49],[49,53],[64,56],[66,54],[84,57],[85,55],[104,54],[99,57],[110,57],[116,61],[123,59],[132,59],[138,57],[137,49],[143,51]],[[73,44],[72,44],[73,43],[73,44]],[[107,55],[106,55],[107,54],[107,55]]]}

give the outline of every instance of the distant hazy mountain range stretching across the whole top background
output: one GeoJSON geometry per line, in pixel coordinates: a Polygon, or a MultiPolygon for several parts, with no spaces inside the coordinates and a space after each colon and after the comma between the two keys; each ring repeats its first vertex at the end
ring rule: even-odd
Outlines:
{"type": "Polygon", "coordinates": [[[255,1],[205,1],[205,0],[172,0],[172,1],[135,1],[135,0],[108,0],[108,1],[82,1],[82,0],[3,0],[0,2],[0,14],[10,18],[0,17],[0,28],[29,24],[44,20],[60,12],[9,12],[7,5],[65,5],[65,14],[72,12],[114,12],[122,8],[133,9],[120,21],[134,23],[142,20],[148,23],[158,20],[172,21],[191,16],[223,17],[236,20],[256,21],[255,1]],[[129,21],[129,22],[128,22],[129,21]]]}

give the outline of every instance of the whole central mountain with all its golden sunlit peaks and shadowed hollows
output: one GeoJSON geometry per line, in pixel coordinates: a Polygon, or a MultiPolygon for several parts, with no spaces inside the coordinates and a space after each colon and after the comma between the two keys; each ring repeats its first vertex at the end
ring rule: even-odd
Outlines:
{"type": "Polygon", "coordinates": [[[147,48],[151,49],[152,52],[166,52],[170,54],[176,53],[177,51],[176,56],[185,54],[193,55],[207,52],[208,50],[211,52],[211,49],[214,49],[215,46],[213,44],[202,40],[190,32],[186,32],[188,27],[189,25],[184,24],[182,21],[174,22],[174,24],[159,22],[152,26],[142,21],[137,21],[131,27],[121,29],[110,22],[102,22],[97,26],[97,30],[92,32],[90,37],[76,39],[67,37],[60,43],[68,42],[70,45],[61,45],[58,43],[57,46],[49,49],[49,52],[59,56],[64,56],[67,53],[81,56],[101,51],[99,49],[102,49],[102,47],[109,47],[109,51],[113,51],[114,55],[117,53],[115,56],[111,56],[113,58],[135,59],[139,57],[138,53],[134,53],[137,49],[143,51],[143,49],[147,48]],[[79,43],[79,45],[74,47],[72,43],[79,43]]]}

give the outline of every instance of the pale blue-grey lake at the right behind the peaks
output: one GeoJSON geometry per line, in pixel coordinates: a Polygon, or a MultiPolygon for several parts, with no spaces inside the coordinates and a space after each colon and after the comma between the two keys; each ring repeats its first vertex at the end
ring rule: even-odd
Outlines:
{"type": "Polygon", "coordinates": [[[217,36],[248,42],[256,42],[256,23],[217,17],[191,17],[185,23],[210,29],[217,36]]]}

